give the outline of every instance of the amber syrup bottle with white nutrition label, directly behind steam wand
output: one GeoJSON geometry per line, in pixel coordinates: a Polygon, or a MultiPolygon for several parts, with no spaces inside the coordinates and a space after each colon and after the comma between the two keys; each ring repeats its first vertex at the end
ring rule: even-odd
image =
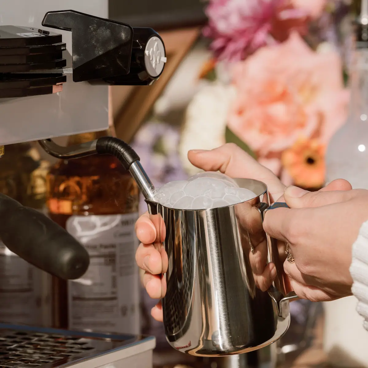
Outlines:
{"type": "MultiPolygon", "coordinates": [[[[113,130],[74,135],[68,145],[113,135],[113,130]]],[[[100,332],[139,333],[139,191],[113,156],[62,160],[47,176],[49,216],[90,255],[85,275],[53,279],[54,326],[100,332]]]]}

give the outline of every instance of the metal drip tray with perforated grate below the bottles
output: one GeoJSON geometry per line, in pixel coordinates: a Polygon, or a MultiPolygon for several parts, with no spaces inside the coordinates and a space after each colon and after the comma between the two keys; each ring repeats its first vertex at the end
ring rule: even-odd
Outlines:
{"type": "Polygon", "coordinates": [[[91,368],[99,367],[101,359],[95,358],[104,357],[106,364],[120,360],[137,354],[137,345],[141,351],[152,350],[155,338],[0,323],[0,368],[56,368],[86,360],[91,368]],[[134,353],[129,353],[131,348],[134,353]]]}

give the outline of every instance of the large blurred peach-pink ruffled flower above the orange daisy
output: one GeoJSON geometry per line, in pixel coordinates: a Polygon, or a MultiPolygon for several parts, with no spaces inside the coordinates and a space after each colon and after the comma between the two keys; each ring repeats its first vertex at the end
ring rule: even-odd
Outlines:
{"type": "Polygon", "coordinates": [[[263,160],[280,158],[300,136],[327,144],[346,119],[349,95],[339,54],[312,51],[298,33],[258,50],[233,71],[237,97],[228,126],[263,160]]]}

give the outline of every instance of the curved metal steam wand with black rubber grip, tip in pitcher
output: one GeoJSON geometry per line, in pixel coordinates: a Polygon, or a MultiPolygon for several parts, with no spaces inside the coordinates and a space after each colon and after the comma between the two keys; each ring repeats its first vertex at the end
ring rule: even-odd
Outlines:
{"type": "Polygon", "coordinates": [[[42,139],[38,141],[41,147],[51,156],[70,160],[91,155],[112,155],[115,156],[128,170],[137,182],[145,199],[154,200],[156,193],[148,175],[144,171],[139,156],[130,145],[115,137],[101,137],[91,142],[81,143],[68,147],[59,146],[52,139],[42,139]]]}

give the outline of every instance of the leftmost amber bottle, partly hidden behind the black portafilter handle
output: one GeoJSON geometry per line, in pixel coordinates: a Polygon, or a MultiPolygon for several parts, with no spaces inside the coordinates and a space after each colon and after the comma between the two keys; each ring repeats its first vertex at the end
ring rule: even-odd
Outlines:
{"type": "MultiPolygon", "coordinates": [[[[0,192],[45,212],[48,168],[30,144],[8,145],[0,159],[0,192]]],[[[50,327],[51,315],[51,276],[0,241],[0,320],[50,327]]]]}

